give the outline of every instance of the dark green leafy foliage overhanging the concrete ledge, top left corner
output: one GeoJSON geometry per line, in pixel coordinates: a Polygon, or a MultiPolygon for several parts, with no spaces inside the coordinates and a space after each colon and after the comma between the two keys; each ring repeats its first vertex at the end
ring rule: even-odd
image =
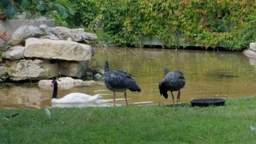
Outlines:
{"type": "Polygon", "coordinates": [[[0,12],[6,12],[8,19],[13,19],[17,13],[28,12],[33,15],[51,17],[56,23],[74,15],[72,4],[67,0],[2,0],[0,12]]]}

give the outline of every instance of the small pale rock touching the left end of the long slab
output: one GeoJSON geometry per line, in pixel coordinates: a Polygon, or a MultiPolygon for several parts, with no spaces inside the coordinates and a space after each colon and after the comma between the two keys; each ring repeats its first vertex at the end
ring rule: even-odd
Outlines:
{"type": "Polygon", "coordinates": [[[19,60],[23,58],[24,51],[25,47],[22,47],[22,45],[17,45],[5,51],[3,54],[3,58],[9,60],[19,60]]]}

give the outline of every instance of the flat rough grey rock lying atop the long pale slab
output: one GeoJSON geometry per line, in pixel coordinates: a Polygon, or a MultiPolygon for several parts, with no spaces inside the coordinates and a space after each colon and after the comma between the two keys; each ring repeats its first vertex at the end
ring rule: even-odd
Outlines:
{"type": "Polygon", "coordinates": [[[75,42],[97,40],[97,35],[95,33],[85,33],[84,31],[77,29],[69,29],[60,26],[51,28],[51,33],[60,38],[60,40],[67,40],[68,38],[71,38],[71,40],[75,42]]]}

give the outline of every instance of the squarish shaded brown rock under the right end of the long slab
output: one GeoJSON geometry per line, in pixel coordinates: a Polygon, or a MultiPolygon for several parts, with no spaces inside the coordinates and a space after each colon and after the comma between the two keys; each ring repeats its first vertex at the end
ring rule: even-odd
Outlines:
{"type": "Polygon", "coordinates": [[[81,78],[85,75],[86,65],[83,61],[60,61],[58,64],[63,76],[81,78]]]}

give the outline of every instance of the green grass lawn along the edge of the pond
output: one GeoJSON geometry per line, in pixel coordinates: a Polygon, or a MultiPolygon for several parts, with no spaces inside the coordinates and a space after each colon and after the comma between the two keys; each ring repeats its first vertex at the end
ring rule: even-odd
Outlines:
{"type": "Polygon", "coordinates": [[[256,143],[256,97],[192,108],[0,109],[0,143],[256,143]],[[19,113],[12,118],[4,116],[19,113]]]}

